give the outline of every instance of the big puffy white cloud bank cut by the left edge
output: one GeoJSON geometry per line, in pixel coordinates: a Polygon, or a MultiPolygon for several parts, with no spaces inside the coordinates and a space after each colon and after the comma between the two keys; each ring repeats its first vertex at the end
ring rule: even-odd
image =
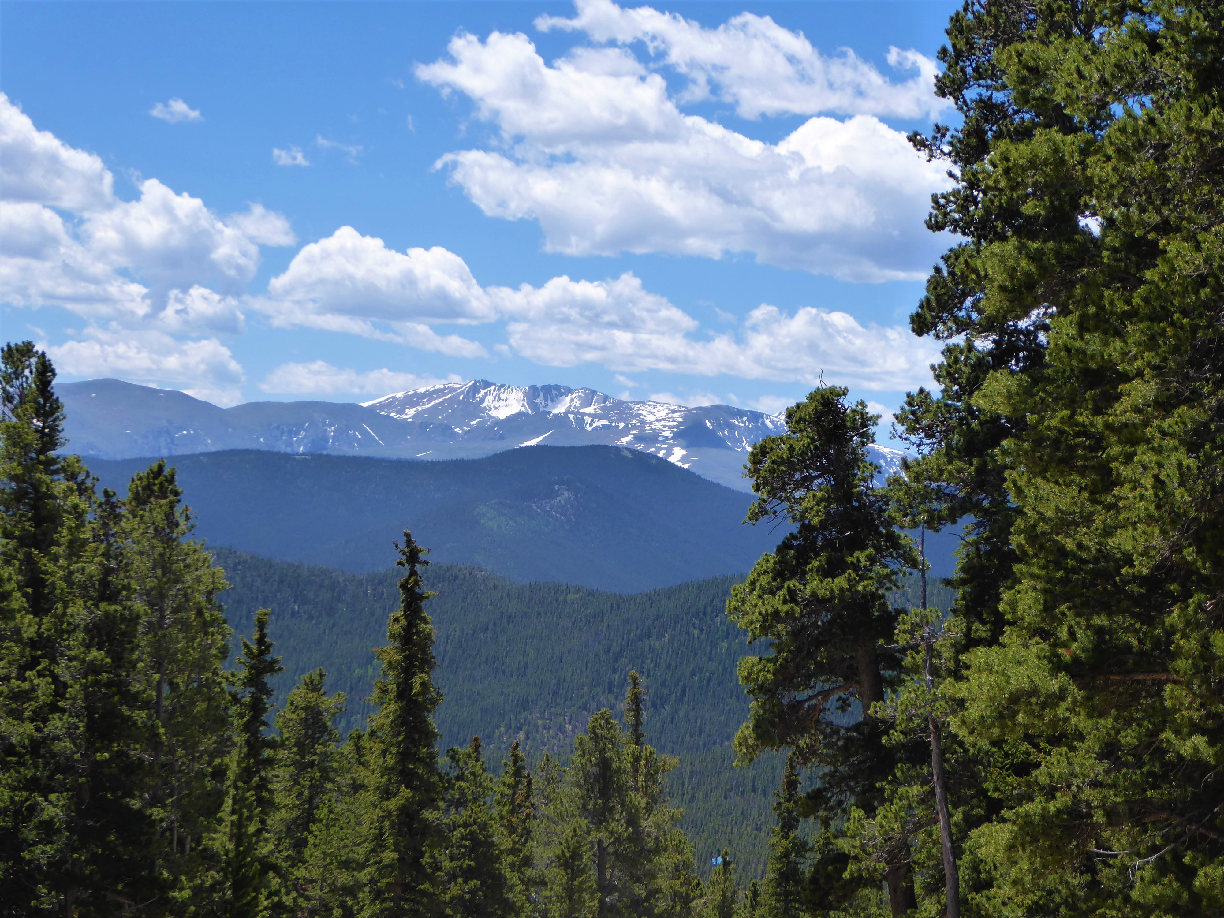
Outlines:
{"type": "Polygon", "coordinates": [[[0,239],[0,300],[157,327],[171,291],[236,293],[261,245],[295,241],[288,220],[261,204],[223,219],[157,179],[120,201],[98,157],[38,131],[2,94],[0,239]]]}

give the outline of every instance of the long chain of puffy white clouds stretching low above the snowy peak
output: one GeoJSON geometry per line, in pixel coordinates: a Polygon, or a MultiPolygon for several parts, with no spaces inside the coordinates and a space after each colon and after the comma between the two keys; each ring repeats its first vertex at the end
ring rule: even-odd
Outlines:
{"type": "Polygon", "coordinates": [[[928,382],[929,364],[938,359],[929,341],[906,328],[863,326],[845,312],[816,307],[787,313],[763,305],[733,330],[703,334],[695,318],[646,290],[632,272],[599,282],[562,275],[539,288],[483,289],[453,252],[397,252],[351,226],[305,246],[272,279],[268,296],[250,302],[275,326],[463,357],[487,351],[431,326],[504,319],[510,351],[535,364],[597,364],[621,373],[660,370],[804,384],[824,378],[895,390],[928,382]]]}

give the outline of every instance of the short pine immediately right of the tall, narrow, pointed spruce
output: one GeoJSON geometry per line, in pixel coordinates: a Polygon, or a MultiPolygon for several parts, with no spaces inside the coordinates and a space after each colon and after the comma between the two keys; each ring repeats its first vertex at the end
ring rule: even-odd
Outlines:
{"type": "Polygon", "coordinates": [[[447,758],[452,775],[442,820],[446,843],[432,858],[443,912],[447,918],[506,918],[514,906],[480,737],[466,749],[450,749],[447,758]]]}

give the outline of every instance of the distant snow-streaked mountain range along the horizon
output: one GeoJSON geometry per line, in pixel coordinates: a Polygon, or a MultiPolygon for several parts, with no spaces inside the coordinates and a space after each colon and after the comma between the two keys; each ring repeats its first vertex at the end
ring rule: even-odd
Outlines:
{"type": "MultiPolygon", "coordinates": [[[[777,415],[731,405],[629,401],[565,386],[442,383],[367,401],[258,401],[223,409],[177,392],[95,379],[58,387],[70,448],[108,459],[268,449],[405,459],[471,459],[530,446],[639,449],[748,490],[752,446],[777,415]]],[[[885,474],[902,453],[874,447],[885,474]]]]}

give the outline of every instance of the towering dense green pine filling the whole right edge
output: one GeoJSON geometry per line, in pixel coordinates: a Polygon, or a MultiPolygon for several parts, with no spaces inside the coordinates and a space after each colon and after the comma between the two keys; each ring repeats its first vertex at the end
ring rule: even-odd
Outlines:
{"type": "Polygon", "coordinates": [[[1219,11],[967,5],[949,37],[931,223],[965,242],[916,330],[962,335],[945,379],[977,366],[919,419],[963,460],[925,479],[988,474],[973,512],[1010,518],[958,573],[965,873],[995,913],[1218,913],[1219,11]]]}

